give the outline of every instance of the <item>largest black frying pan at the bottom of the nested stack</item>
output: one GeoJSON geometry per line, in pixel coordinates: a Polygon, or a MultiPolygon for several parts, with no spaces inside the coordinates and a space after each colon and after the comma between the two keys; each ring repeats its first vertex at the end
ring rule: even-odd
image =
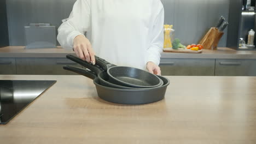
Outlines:
{"type": "MultiPolygon", "coordinates": [[[[72,69],[77,73],[78,71],[72,69]]],[[[94,80],[98,97],[103,100],[118,104],[148,104],[164,99],[170,81],[163,76],[158,76],[164,83],[162,86],[142,89],[121,89],[102,86],[100,79],[92,71],[79,71],[84,76],[94,80]]]]}

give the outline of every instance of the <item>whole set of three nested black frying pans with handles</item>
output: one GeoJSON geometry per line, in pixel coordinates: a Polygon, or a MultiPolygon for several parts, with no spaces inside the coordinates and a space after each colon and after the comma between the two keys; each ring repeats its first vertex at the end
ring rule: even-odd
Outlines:
{"type": "Polygon", "coordinates": [[[97,56],[95,65],[72,55],[67,55],[67,58],[89,70],[68,65],[63,69],[94,80],[98,97],[112,103],[153,103],[164,99],[166,88],[170,84],[163,76],[137,68],[117,66],[97,56]]]}

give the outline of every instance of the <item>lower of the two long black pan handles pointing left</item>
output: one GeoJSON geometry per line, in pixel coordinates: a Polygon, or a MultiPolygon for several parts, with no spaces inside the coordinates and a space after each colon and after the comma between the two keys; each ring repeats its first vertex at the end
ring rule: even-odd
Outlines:
{"type": "Polygon", "coordinates": [[[95,73],[93,73],[92,71],[85,70],[85,69],[78,68],[78,67],[72,67],[72,66],[66,65],[63,67],[63,69],[73,71],[74,73],[86,76],[92,80],[94,80],[97,77],[97,75],[95,73]]]}

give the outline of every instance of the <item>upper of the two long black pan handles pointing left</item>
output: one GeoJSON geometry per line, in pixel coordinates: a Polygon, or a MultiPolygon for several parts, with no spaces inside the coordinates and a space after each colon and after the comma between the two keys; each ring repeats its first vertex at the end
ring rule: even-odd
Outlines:
{"type": "Polygon", "coordinates": [[[96,65],[92,65],[92,64],[90,64],[90,63],[88,63],[86,61],[83,61],[83,59],[80,59],[78,57],[75,57],[75,56],[72,56],[72,55],[67,55],[66,57],[68,59],[70,59],[71,61],[79,63],[79,64],[83,65],[85,68],[90,69],[91,71],[93,71],[97,75],[100,74],[103,71],[100,68],[98,68],[96,65]]]}

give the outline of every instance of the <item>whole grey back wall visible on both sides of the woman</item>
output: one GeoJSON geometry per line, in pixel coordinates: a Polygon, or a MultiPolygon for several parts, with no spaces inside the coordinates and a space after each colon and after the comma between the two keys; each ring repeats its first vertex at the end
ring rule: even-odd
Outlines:
{"type": "MultiPolygon", "coordinates": [[[[197,43],[223,15],[228,19],[229,0],[161,0],[165,23],[174,25],[183,44],[197,43]]],[[[57,27],[68,17],[75,0],[7,0],[10,45],[25,45],[24,26],[50,22],[57,27]]],[[[226,31],[225,31],[226,32],[226,31]]],[[[226,34],[220,41],[226,46],[226,34]]]]}

